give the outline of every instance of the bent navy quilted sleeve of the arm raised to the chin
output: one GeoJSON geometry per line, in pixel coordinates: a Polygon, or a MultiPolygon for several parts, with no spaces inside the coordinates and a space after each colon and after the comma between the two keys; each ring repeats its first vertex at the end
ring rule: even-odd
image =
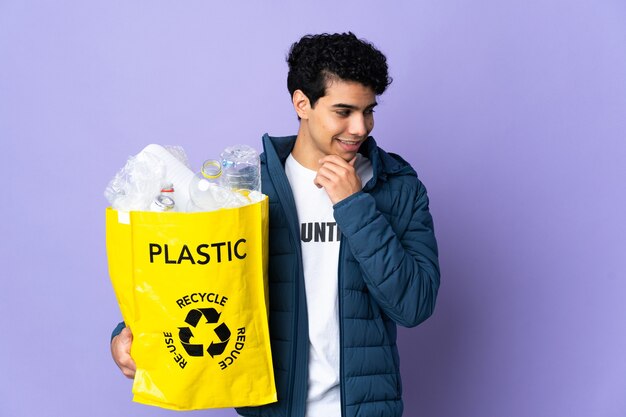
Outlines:
{"type": "Polygon", "coordinates": [[[374,197],[362,191],[335,205],[335,219],[360,264],[370,295],[387,316],[406,327],[432,314],[439,289],[428,196],[416,181],[417,188],[410,187],[409,192],[403,187],[404,195],[393,196],[389,220],[374,197]]]}

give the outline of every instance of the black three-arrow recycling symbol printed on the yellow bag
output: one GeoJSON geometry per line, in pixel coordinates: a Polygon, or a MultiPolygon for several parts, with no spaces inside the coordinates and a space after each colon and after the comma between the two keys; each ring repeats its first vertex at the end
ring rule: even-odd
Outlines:
{"type": "MultiPolygon", "coordinates": [[[[221,313],[218,313],[214,308],[193,309],[189,310],[187,313],[185,323],[195,329],[197,328],[198,323],[200,323],[200,319],[202,319],[202,317],[206,319],[204,324],[211,325],[219,321],[220,315],[221,313]]],[[[191,338],[194,337],[194,335],[189,326],[178,328],[180,343],[183,345],[183,348],[185,348],[185,351],[187,351],[189,356],[203,356],[204,345],[191,343],[191,338]]],[[[224,349],[226,349],[226,345],[228,345],[228,341],[230,340],[230,329],[226,326],[226,323],[221,323],[216,326],[213,329],[213,332],[219,338],[219,342],[211,342],[211,344],[207,347],[206,352],[211,355],[211,357],[224,353],[224,349]]]]}

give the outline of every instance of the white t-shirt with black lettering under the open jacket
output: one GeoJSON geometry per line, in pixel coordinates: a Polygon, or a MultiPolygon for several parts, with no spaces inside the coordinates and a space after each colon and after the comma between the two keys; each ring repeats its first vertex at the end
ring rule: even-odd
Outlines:
{"type": "MultiPolygon", "coordinates": [[[[363,184],[372,178],[372,166],[367,158],[358,155],[355,167],[363,184]]],[[[313,183],[316,171],[305,168],[289,155],[285,172],[300,221],[309,317],[306,417],[340,416],[337,270],[341,232],[328,194],[313,183]]]]}

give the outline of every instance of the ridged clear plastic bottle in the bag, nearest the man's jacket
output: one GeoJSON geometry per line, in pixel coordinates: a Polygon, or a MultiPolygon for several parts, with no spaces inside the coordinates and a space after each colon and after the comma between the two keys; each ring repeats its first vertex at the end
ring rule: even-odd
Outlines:
{"type": "Polygon", "coordinates": [[[229,146],[220,154],[224,185],[232,190],[261,191],[261,163],[248,145],[229,146]]]}

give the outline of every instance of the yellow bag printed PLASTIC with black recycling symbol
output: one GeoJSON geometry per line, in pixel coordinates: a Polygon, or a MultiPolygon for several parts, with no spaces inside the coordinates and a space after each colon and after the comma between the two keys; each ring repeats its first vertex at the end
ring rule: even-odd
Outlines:
{"type": "Polygon", "coordinates": [[[178,410],[276,401],[268,201],[200,213],[106,211],[109,273],[137,364],[134,401],[178,410]]]}

